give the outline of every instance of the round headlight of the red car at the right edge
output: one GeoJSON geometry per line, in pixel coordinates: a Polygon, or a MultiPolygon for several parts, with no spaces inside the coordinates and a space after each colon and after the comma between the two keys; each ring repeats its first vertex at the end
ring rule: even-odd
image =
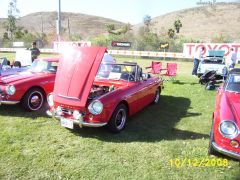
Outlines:
{"type": "Polygon", "coordinates": [[[223,121],[219,125],[219,129],[221,134],[227,138],[233,139],[238,135],[237,126],[232,121],[223,121]]]}

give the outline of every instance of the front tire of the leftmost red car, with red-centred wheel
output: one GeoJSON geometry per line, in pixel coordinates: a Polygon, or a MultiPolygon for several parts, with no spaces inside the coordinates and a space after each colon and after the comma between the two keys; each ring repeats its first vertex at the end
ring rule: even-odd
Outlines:
{"type": "Polygon", "coordinates": [[[32,88],[23,96],[22,106],[27,111],[38,111],[45,101],[44,92],[39,88],[32,88]]]}

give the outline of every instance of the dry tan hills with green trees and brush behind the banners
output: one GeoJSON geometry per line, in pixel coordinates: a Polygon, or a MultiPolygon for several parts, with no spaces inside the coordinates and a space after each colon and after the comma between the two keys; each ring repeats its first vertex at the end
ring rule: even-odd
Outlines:
{"type": "MultiPolygon", "coordinates": [[[[14,36],[6,34],[6,21],[0,19],[0,46],[12,41],[40,40],[51,47],[56,40],[56,12],[38,12],[16,21],[14,36]]],[[[216,3],[143,17],[142,23],[131,25],[112,19],[79,13],[62,13],[63,40],[88,40],[92,44],[111,47],[112,41],[132,42],[131,49],[161,51],[160,43],[169,43],[167,51],[181,52],[185,42],[240,42],[240,3],[216,3]]]]}

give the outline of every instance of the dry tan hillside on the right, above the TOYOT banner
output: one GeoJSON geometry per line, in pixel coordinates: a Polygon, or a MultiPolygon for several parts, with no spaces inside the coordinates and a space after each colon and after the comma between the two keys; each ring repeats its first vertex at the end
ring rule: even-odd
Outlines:
{"type": "MultiPolygon", "coordinates": [[[[173,28],[177,19],[183,24],[179,35],[210,41],[212,37],[222,34],[234,42],[240,41],[240,3],[220,3],[175,11],[152,18],[150,28],[153,32],[164,33],[173,28]]],[[[140,26],[142,24],[134,27],[135,32],[140,26]]]]}

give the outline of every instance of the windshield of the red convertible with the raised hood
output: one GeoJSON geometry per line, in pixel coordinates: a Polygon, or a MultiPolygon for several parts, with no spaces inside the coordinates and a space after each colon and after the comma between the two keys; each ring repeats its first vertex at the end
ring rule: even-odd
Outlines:
{"type": "Polygon", "coordinates": [[[101,64],[96,78],[135,81],[135,65],[101,64]]]}

